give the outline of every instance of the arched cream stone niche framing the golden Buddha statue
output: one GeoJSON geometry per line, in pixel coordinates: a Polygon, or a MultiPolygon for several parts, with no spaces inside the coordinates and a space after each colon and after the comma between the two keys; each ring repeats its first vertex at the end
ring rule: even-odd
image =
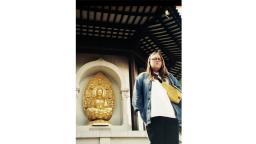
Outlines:
{"type": "MultiPolygon", "coordinates": [[[[102,128],[131,130],[131,126],[128,124],[130,112],[127,108],[127,104],[129,104],[130,101],[129,89],[123,73],[116,65],[103,60],[102,58],[85,63],[77,72],[76,125],[78,126],[78,129],[79,127],[88,130],[96,128],[89,124],[83,111],[82,101],[88,81],[99,72],[104,74],[112,83],[115,99],[113,114],[109,120],[111,126],[103,126],[102,128]]],[[[97,126],[97,128],[99,128],[99,126],[97,126]]]]}

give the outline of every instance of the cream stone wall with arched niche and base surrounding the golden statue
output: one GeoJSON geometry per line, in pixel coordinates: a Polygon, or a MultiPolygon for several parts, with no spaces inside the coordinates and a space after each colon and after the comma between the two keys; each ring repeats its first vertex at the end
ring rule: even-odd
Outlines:
{"type": "Polygon", "coordinates": [[[133,131],[129,90],[129,66],[126,57],[117,55],[77,55],[76,143],[148,144],[145,131],[133,131]],[[98,72],[112,83],[115,108],[108,126],[90,125],[83,111],[83,95],[88,81],[98,72]]]}

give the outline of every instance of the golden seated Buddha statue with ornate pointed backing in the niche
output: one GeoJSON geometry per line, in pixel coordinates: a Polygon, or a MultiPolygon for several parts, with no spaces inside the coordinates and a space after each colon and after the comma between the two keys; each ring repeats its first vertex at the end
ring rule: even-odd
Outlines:
{"type": "Polygon", "coordinates": [[[83,109],[93,125],[108,125],[114,108],[114,95],[111,82],[97,73],[89,80],[83,97],[83,109]]]}

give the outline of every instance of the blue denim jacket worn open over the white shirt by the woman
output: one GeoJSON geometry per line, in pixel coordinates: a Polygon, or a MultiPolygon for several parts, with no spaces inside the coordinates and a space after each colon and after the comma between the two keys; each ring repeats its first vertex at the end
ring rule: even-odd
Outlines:
{"type": "MultiPolygon", "coordinates": [[[[181,90],[179,81],[171,73],[169,73],[168,78],[172,86],[181,90]]],[[[151,123],[151,87],[152,81],[148,78],[147,72],[143,72],[137,76],[133,89],[132,106],[135,112],[140,112],[141,118],[146,125],[151,123]]],[[[179,124],[181,124],[181,102],[179,105],[172,102],[172,106],[176,118],[179,124]]]]}

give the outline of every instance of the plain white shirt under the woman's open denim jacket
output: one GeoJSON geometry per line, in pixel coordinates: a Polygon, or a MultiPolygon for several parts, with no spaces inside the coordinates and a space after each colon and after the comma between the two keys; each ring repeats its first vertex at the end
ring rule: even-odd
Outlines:
{"type": "Polygon", "coordinates": [[[151,89],[151,117],[156,116],[176,118],[166,90],[158,80],[153,80],[151,89]]]}

